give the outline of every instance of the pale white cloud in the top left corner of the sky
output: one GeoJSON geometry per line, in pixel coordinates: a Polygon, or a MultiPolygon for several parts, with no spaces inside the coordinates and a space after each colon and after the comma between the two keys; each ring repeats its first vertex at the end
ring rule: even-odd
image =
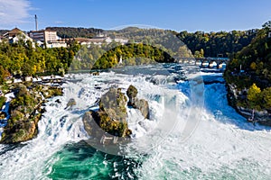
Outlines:
{"type": "Polygon", "coordinates": [[[25,23],[30,10],[29,0],[0,0],[0,28],[25,23]]]}

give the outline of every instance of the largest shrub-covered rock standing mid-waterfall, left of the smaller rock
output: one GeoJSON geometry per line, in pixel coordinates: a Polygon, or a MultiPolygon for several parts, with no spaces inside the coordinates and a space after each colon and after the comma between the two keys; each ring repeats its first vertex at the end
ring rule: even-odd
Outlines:
{"type": "Polygon", "coordinates": [[[128,137],[131,130],[128,130],[126,121],[126,103],[126,96],[120,89],[110,88],[101,96],[98,112],[84,114],[85,130],[90,136],[96,137],[101,135],[98,129],[117,137],[128,137]]]}

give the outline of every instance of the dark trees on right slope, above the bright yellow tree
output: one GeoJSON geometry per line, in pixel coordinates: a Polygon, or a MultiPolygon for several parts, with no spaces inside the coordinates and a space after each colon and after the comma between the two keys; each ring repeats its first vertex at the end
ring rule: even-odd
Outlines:
{"type": "Polygon", "coordinates": [[[271,22],[265,23],[247,47],[232,55],[225,72],[226,80],[236,80],[236,76],[232,75],[244,70],[243,76],[246,76],[246,79],[236,82],[240,88],[253,83],[261,88],[271,84],[271,37],[268,37],[270,32],[271,22]]]}

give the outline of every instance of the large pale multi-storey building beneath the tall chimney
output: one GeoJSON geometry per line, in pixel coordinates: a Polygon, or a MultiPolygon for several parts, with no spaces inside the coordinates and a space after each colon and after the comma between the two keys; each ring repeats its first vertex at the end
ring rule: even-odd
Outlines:
{"type": "Polygon", "coordinates": [[[30,31],[29,35],[36,42],[40,44],[42,43],[43,47],[47,48],[67,47],[67,43],[63,40],[60,40],[60,38],[58,37],[57,31],[51,30],[30,31]]]}

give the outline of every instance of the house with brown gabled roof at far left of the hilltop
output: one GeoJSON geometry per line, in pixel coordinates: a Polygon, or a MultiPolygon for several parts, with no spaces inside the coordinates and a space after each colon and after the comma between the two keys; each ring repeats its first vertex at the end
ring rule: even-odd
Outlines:
{"type": "Polygon", "coordinates": [[[6,32],[3,35],[3,39],[8,40],[10,43],[15,43],[18,42],[19,40],[23,40],[24,42],[30,40],[33,42],[32,38],[30,38],[26,33],[24,33],[18,28],[14,28],[12,31],[6,32]]]}

